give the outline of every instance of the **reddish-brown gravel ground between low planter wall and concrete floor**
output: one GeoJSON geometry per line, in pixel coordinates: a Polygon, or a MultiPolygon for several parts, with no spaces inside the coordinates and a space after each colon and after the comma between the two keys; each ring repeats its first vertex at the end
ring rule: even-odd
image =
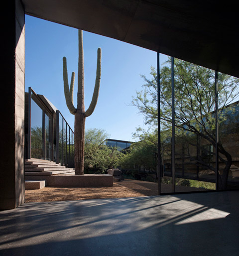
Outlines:
{"type": "MultiPolygon", "coordinates": [[[[176,186],[176,192],[195,190],[202,189],[176,186]]],[[[171,185],[162,184],[161,191],[165,193],[172,191],[171,185]]],[[[39,190],[26,190],[25,202],[49,202],[156,195],[158,195],[157,183],[125,179],[120,182],[114,182],[113,187],[45,187],[39,190]]]]}

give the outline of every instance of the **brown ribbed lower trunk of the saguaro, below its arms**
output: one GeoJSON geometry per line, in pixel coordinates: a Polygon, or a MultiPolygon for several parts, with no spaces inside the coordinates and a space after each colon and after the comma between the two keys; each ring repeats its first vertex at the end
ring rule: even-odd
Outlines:
{"type": "Polygon", "coordinates": [[[85,115],[75,114],[75,175],[84,175],[85,115]]]}

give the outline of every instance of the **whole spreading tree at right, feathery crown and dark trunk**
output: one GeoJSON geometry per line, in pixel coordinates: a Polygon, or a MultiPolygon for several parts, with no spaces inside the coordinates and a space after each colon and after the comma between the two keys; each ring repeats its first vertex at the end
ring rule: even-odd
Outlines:
{"type": "MultiPolygon", "coordinates": [[[[171,95],[171,65],[170,58],[160,69],[160,125],[161,125],[161,152],[164,158],[171,158],[172,133],[172,95],[171,95]]],[[[142,76],[145,84],[143,90],[136,92],[132,105],[137,107],[144,116],[145,124],[157,125],[157,72],[151,67],[151,79],[142,76]]],[[[207,144],[216,146],[215,141],[215,72],[213,70],[175,59],[175,135],[176,142],[184,144],[184,157],[196,161],[203,168],[213,171],[215,167],[195,157],[192,147],[200,151],[207,144]],[[198,139],[198,140],[197,140],[198,139]],[[182,142],[183,141],[183,142],[182,142]],[[200,144],[201,143],[201,144],[200,144]],[[191,147],[191,148],[190,148],[191,147]]],[[[238,123],[238,105],[231,104],[239,96],[239,79],[226,74],[218,74],[218,103],[220,139],[227,135],[225,127],[231,127],[229,117],[238,123]],[[230,105],[231,104],[231,105],[230,105]]],[[[226,129],[227,129],[226,128],[226,129]]],[[[230,128],[239,130],[238,126],[230,128]]],[[[179,144],[176,143],[176,144],[179,144]]],[[[219,158],[225,163],[223,175],[220,175],[219,186],[226,188],[228,173],[232,164],[232,157],[224,148],[221,140],[218,143],[219,158]]],[[[211,152],[215,154],[214,152],[211,152]]]]}

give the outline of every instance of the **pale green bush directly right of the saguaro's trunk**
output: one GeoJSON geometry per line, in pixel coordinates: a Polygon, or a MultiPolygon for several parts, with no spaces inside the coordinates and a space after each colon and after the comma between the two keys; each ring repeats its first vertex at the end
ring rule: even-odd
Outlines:
{"type": "Polygon", "coordinates": [[[116,147],[104,145],[109,134],[104,129],[88,129],[85,134],[84,168],[104,173],[107,169],[116,168],[122,155],[116,147]]]}

